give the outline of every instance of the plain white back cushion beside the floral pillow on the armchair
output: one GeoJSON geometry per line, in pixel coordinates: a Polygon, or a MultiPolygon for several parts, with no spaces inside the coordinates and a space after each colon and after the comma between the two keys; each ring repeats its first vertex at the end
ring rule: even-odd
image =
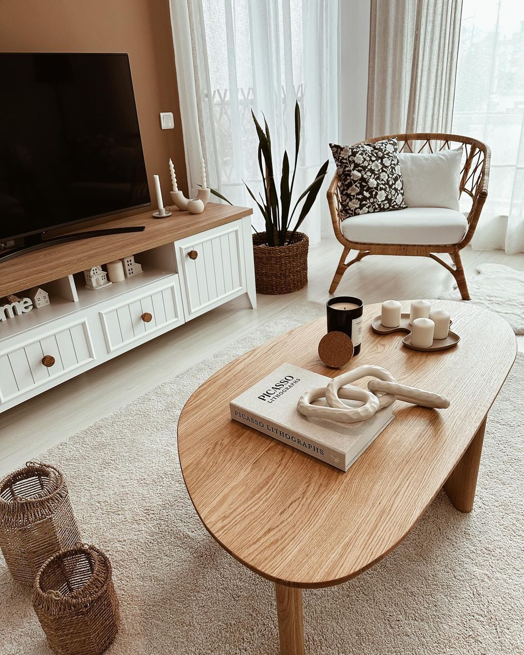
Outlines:
{"type": "Polygon", "coordinates": [[[462,146],[440,153],[398,153],[408,207],[444,207],[458,212],[462,146]]]}

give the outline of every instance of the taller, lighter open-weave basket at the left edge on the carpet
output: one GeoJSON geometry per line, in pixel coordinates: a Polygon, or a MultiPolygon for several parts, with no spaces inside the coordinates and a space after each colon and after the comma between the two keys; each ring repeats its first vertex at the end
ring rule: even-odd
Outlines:
{"type": "Polygon", "coordinates": [[[43,563],[81,541],[62,473],[28,462],[0,483],[0,548],[17,582],[33,584],[43,563]]]}

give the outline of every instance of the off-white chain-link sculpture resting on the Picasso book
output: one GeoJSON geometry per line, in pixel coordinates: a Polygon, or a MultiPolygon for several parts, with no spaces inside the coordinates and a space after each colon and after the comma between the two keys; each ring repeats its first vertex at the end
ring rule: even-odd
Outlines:
{"type": "Polygon", "coordinates": [[[381,366],[368,364],[333,378],[326,388],[320,387],[305,392],[297,403],[297,409],[301,414],[317,419],[356,423],[371,418],[375,412],[391,405],[395,400],[436,409],[449,407],[449,400],[445,396],[415,386],[398,384],[389,371],[381,366]],[[366,376],[374,378],[367,384],[369,391],[350,384],[366,376]],[[326,398],[328,406],[312,405],[312,402],[319,398],[326,398]],[[364,402],[364,405],[348,407],[341,398],[358,400],[364,402]]]}

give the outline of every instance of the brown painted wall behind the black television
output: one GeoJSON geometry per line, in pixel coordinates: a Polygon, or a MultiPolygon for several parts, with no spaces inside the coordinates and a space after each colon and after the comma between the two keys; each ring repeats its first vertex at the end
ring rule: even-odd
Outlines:
{"type": "Polygon", "coordinates": [[[170,157],[187,191],[168,0],[1,0],[0,50],[127,52],[151,202],[158,173],[170,204],[170,157]],[[173,112],[174,130],[160,130],[160,111],[173,112]]]}

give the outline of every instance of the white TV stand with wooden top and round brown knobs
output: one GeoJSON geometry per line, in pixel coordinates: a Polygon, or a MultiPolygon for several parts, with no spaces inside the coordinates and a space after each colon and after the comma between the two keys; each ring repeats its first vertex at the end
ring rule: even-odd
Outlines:
{"type": "Polygon", "coordinates": [[[0,412],[239,295],[255,307],[250,214],[214,203],[199,215],[155,220],[147,212],[103,226],[145,225],[143,233],[1,263],[0,297],[41,286],[51,304],[0,322],[0,412]],[[142,273],[96,291],[84,287],[82,271],[128,255],[142,273]]]}

